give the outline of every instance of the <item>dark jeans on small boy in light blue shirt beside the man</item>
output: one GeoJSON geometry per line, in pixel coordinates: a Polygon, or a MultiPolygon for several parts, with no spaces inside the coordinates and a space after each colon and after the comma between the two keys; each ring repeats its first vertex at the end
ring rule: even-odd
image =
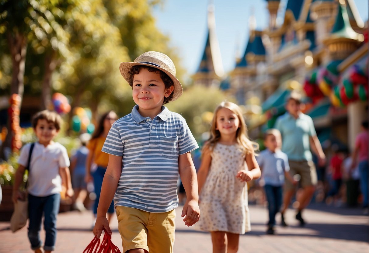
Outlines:
{"type": "Polygon", "coordinates": [[[268,225],[275,226],[276,214],[280,211],[280,207],[282,206],[282,186],[272,186],[270,184],[266,184],[264,188],[269,209],[268,225]]]}

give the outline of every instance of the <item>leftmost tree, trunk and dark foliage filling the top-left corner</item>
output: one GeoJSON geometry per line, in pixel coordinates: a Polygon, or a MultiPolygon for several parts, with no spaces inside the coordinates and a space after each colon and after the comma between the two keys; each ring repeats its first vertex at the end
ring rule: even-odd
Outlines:
{"type": "MultiPolygon", "coordinates": [[[[47,41],[45,38],[47,36],[45,35],[52,34],[52,31],[55,29],[57,29],[59,34],[63,33],[63,29],[54,18],[54,15],[57,15],[56,12],[61,2],[64,5],[68,5],[72,1],[0,1],[0,41],[2,42],[0,46],[4,48],[3,42],[6,39],[6,45],[8,46],[6,52],[10,53],[12,62],[10,94],[18,94],[23,99],[28,42],[35,41],[34,38],[37,38],[42,45],[46,46],[49,41],[47,41]],[[46,22],[46,20],[49,22],[46,22]]],[[[54,48],[58,48],[58,46],[59,44],[55,44],[54,48]]],[[[6,59],[3,55],[2,59],[4,58],[6,59]]],[[[21,103],[19,107],[21,107],[21,103]]],[[[8,129],[10,129],[9,124],[8,129]]],[[[12,131],[8,131],[5,145],[2,145],[2,148],[10,145],[10,139],[13,134],[12,131]]]]}

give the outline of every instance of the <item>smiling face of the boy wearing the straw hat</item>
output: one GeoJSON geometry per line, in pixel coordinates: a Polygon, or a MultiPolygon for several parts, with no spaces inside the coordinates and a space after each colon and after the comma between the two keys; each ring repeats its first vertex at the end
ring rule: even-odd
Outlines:
{"type": "Polygon", "coordinates": [[[169,97],[174,87],[165,88],[159,73],[141,68],[133,77],[132,97],[144,117],[154,118],[161,112],[164,97],[169,97]]]}

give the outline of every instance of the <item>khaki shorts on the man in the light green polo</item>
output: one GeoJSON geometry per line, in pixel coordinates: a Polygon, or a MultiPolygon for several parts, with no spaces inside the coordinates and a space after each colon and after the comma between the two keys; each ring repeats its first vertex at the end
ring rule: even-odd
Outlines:
{"type": "MultiPolygon", "coordinates": [[[[290,165],[289,173],[291,176],[299,174],[300,179],[300,186],[316,186],[318,183],[317,178],[317,170],[315,169],[315,165],[313,161],[294,161],[288,160],[290,165]]],[[[291,184],[289,180],[285,180],[285,187],[286,190],[293,190],[295,186],[291,184]]]]}

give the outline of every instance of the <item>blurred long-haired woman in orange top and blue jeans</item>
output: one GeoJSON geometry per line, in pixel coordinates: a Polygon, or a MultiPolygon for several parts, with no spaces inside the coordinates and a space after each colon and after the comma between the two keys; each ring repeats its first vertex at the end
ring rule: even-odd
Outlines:
{"type": "MultiPolygon", "coordinates": [[[[117,114],[114,111],[108,111],[104,113],[97,125],[97,128],[93,132],[91,140],[87,144],[87,148],[89,149],[89,154],[86,159],[86,183],[89,183],[93,180],[94,190],[96,193],[96,199],[93,205],[93,222],[92,228],[96,222],[97,216],[97,206],[99,205],[101,185],[103,184],[104,175],[106,172],[106,168],[109,162],[109,155],[101,151],[103,148],[106,136],[113,125],[113,123],[118,119],[117,114]],[[91,174],[92,164],[96,164],[96,170],[91,174]]],[[[107,217],[108,221],[111,221],[111,217],[114,214],[114,205],[113,201],[111,201],[107,217]]]]}

